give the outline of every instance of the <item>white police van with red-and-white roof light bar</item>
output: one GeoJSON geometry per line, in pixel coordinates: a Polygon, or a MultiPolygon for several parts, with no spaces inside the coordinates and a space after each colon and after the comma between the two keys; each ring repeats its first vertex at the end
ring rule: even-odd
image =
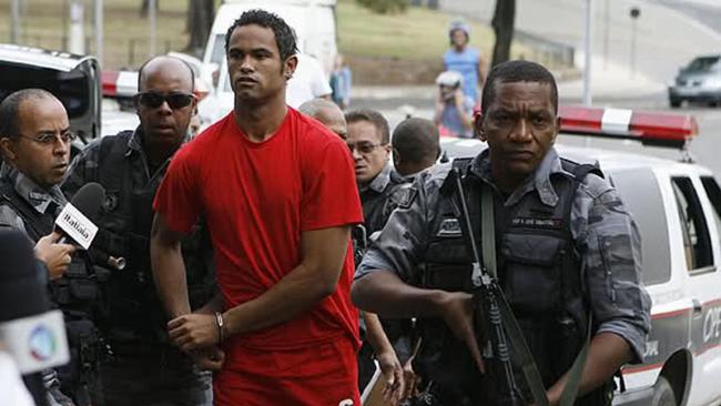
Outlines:
{"type": "MultiPolygon", "coordinates": [[[[686,151],[697,135],[688,115],[566,106],[560,134],[637,140],[678,148],[680,160],[590,148],[556,148],[593,163],[617,187],[642,238],[642,278],[652,300],[644,362],[622,368],[615,405],[721,404],[721,189],[686,151]]],[[[449,156],[485,144],[441,139],[449,156]]]]}

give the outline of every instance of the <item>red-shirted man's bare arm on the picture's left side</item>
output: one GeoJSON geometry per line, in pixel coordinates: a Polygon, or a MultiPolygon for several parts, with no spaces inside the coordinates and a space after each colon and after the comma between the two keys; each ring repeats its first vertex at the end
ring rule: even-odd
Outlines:
{"type": "Polygon", "coordinates": [[[181,252],[183,234],[171,230],[161,213],[155,214],[150,237],[150,258],[158,294],[170,318],[191,313],[181,252]]]}

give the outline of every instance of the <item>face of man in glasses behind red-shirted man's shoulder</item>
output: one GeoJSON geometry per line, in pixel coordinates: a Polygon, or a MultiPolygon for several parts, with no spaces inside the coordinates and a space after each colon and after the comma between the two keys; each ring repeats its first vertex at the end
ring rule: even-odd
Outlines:
{"type": "Polygon", "coordinates": [[[365,120],[348,124],[346,143],[355,161],[356,181],[362,185],[370,183],[388,163],[390,144],[383,144],[380,131],[365,120]]]}

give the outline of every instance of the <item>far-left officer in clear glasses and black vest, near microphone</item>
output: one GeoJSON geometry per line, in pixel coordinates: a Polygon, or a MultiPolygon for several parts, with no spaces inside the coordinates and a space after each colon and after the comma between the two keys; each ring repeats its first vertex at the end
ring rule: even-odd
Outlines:
{"type": "Polygon", "coordinates": [[[0,104],[4,158],[0,227],[21,230],[38,242],[35,255],[48,266],[50,298],[63,312],[71,362],[57,374],[44,373],[44,379],[50,404],[63,406],[94,404],[102,394],[98,379],[101,345],[92,322],[98,296],[92,266],[87,255],[71,256],[74,248],[53,244],[58,235],[51,235],[54,219],[67,203],[58,184],[65,175],[73,139],[64,106],[44,90],[20,90],[0,104]]]}

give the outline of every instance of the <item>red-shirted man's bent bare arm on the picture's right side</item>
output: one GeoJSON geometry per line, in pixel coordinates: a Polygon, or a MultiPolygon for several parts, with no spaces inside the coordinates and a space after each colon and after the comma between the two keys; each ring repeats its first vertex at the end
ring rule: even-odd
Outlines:
{"type": "Polygon", "coordinates": [[[301,264],[261,296],[226,311],[226,336],[288,322],[333,294],[349,237],[348,225],[303,232],[301,264]]]}

